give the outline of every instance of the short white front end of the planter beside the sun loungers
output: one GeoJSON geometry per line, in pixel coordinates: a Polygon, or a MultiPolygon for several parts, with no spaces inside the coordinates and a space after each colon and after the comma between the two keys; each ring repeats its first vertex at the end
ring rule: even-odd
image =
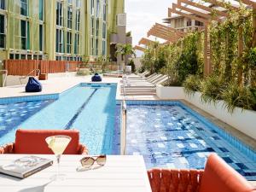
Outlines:
{"type": "Polygon", "coordinates": [[[160,84],[156,85],[156,95],[160,99],[166,100],[178,100],[185,98],[183,87],[165,87],[160,84]]]}

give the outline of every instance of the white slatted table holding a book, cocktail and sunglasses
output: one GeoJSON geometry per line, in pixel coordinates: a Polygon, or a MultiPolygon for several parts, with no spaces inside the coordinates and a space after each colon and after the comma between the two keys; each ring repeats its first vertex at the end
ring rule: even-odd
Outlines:
{"type": "MultiPolygon", "coordinates": [[[[0,165],[8,164],[24,154],[0,154],[0,165]]],[[[107,163],[99,169],[77,172],[81,155],[62,155],[60,173],[66,174],[63,181],[52,181],[57,171],[55,155],[37,155],[54,160],[41,172],[19,179],[0,174],[1,192],[150,192],[150,184],[142,156],[107,156],[107,163]]]]}

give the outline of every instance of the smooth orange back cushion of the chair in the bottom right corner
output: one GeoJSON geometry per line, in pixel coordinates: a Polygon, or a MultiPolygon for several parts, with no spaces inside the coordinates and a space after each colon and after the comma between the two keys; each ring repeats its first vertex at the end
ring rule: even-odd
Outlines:
{"type": "Polygon", "coordinates": [[[200,192],[255,192],[256,189],[217,154],[207,160],[200,192]]]}

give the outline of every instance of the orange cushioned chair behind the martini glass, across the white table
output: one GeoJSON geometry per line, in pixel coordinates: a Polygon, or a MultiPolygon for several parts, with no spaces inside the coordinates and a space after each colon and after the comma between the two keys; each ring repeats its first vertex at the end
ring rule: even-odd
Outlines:
{"type": "Polygon", "coordinates": [[[76,130],[17,130],[15,143],[0,147],[0,154],[53,154],[45,138],[56,135],[72,138],[63,154],[88,154],[76,130]]]}

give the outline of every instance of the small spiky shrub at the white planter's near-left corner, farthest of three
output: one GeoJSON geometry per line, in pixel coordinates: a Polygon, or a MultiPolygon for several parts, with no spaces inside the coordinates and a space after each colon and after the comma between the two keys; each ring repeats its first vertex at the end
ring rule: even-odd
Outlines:
{"type": "Polygon", "coordinates": [[[196,75],[189,75],[184,81],[183,87],[187,95],[194,95],[195,91],[201,89],[201,79],[196,75]]]}

